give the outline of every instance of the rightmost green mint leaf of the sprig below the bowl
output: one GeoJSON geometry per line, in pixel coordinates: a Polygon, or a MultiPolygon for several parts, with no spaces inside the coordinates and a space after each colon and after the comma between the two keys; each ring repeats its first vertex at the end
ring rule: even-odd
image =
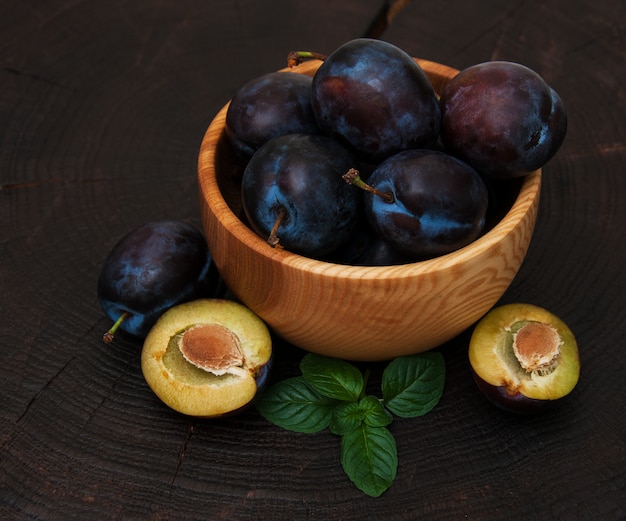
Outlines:
{"type": "Polygon", "coordinates": [[[401,418],[426,414],[443,394],[445,374],[441,353],[420,353],[394,359],[383,372],[385,406],[401,418]]]}

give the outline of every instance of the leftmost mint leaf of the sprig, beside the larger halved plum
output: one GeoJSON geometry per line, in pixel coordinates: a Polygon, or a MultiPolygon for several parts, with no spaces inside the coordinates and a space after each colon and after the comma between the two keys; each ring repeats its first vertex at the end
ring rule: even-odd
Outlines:
{"type": "Polygon", "coordinates": [[[330,423],[337,401],[320,395],[301,376],[265,390],[256,408],[266,420],[294,432],[319,432],[330,423]]]}

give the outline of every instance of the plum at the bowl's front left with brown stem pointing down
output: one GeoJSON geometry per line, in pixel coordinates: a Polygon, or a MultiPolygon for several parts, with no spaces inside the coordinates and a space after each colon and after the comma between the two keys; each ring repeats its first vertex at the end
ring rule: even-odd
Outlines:
{"type": "Polygon", "coordinates": [[[358,224],[361,194],[341,176],[355,163],[332,138],[291,134],[268,141],[242,179],[243,207],[252,229],[272,246],[323,257],[347,241],[358,224]]]}

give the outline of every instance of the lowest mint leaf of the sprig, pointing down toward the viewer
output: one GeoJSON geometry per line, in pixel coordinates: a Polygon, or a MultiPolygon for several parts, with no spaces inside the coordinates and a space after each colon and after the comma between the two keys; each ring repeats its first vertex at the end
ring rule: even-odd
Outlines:
{"type": "Polygon", "coordinates": [[[341,465],[359,490],[380,496],[396,477],[396,442],[386,427],[365,423],[341,438],[341,465]]]}

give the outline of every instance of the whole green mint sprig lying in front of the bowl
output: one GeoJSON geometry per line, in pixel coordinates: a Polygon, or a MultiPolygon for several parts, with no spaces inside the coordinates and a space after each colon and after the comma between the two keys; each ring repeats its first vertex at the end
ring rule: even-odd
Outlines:
{"type": "Polygon", "coordinates": [[[388,426],[393,415],[423,416],[439,402],[445,383],[440,353],[398,357],[382,374],[382,398],[366,395],[368,374],[344,360],[307,354],[302,376],[271,386],[256,407],[268,421],[294,432],[328,427],[341,436],[341,464],[365,494],[378,497],[396,478],[398,454],[388,426]]]}

